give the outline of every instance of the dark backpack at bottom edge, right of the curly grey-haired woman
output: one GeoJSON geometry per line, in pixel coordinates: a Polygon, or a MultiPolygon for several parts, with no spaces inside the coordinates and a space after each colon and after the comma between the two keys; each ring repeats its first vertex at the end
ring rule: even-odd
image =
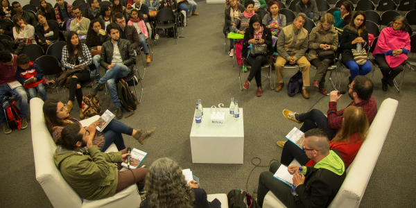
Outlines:
{"type": "Polygon", "coordinates": [[[256,202],[247,192],[241,189],[234,189],[228,192],[229,208],[256,208],[256,202]]]}

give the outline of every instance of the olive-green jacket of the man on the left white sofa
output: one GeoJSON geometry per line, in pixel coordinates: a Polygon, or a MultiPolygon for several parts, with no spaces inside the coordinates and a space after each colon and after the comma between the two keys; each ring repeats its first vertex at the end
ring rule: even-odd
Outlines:
{"type": "Polygon", "coordinates": [[[81,153],[58,147],[53,160],[62,177],[82,198],[98,200],[116,193],[119,170],[114,162],[121,162],[121,152],[101,153],[92,146],[81,153]]]}

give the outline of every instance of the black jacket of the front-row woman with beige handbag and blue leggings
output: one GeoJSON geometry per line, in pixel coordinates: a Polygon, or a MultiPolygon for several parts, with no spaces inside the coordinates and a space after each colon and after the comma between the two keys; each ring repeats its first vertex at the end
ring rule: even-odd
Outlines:
{"type": "Polygon", "coordinates": [[[358,32],[356,28],[352,26],[345,26],[343,34],[341,35],[340,40],[340,50],[343,54],[342,62],[346,63],[350,60],[354,60],[354,56],[352,55],[351,49],[356,49],[356,44],[352,44],[352,41],[355,40],[357,37],[363,37],[365,40],[365,45],[363,44],[363,49],[368,53],[368,31],[367,28],[363,30],[361,35],[358,36],[358,32]]]}

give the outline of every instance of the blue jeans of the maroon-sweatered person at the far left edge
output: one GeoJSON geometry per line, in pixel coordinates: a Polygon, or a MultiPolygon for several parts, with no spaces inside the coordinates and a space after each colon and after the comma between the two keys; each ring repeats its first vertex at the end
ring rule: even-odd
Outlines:
{"type": "MultiPolygon", "coordinates": [[[[26,118],[28,116],[28,94],[26,94],[26,90],[24,87],[16,87],[15,89],[11,89],[8,84],[0,85],[0,104],[3,108],[3,98],[5,96],[14,96],[15,98],[19,98],[19,116],[21,118],[26,118]]],[[[6,116],[4,115],[4,110],[0,110],[0,123],[7,123],[6,116]]]]}

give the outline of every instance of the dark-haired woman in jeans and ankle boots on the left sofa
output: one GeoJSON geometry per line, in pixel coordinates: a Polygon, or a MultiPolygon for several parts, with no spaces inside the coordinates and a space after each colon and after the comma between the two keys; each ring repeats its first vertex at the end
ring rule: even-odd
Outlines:
{"type": "MultiPolygon", "coordinates": [[[[50,99],[45,101],[43,112],[46,126],[55,142],[61,139],[61,132],[65,126],[73,123],[81,125],[77,119],[69,116],[67,105],[64,105],[58,100],[50,99]]],[[[112,119],[104,128],[103,132],[100,132],[96,130],[96,125],[98,124],[99,121],[96,121],[85,129],[89,131],[89,134],[92,137],[92,143],[97,146],[101,152],[105,152],[112,143],[117,146],[118,150],[125,149],[123,134],[130,135],[139,141],[140,144],[144,144],[146,139],[155,132],[155,128],[151,131],[134,130],[116,119],[112,119]]]]}

